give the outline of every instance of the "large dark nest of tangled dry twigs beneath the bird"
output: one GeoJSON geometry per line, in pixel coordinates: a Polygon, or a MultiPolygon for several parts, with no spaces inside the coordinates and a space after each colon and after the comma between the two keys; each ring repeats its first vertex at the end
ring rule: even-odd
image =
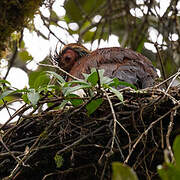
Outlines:
{"type": "Polygon", "coordinates": [[[0,178],[105,180],[112,177],[112,162],[119,161],[139,179],[158,179],[163,151],[171,151],[180,132],[180,88],[121,91],[124,103],[106,94],[90,116],[81,105],[31,113],[4,126],[0,178]]]}

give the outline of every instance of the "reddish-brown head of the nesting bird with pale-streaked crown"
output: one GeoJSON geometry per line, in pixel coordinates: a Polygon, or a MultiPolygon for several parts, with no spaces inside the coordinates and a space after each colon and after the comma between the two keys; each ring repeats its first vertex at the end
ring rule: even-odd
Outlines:
{"type": "Polygon", "coordinates": [[[59,67],[69,72],[76,61],[89,53],[90,51],[81,44],[71,43],[63,47],[56,57],[56,61],[58,62],[59,67]]]}

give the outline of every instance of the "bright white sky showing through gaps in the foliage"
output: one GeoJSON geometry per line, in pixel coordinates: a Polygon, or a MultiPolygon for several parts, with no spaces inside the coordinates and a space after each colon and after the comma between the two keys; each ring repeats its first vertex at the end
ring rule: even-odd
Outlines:
{"type": "MultiPolygon", "coordinates": [[[[160,16],[162,16],[164,14],[164,12],[166,11],[170,0],[157,0],[157,1],[160,1],[160,8],[157,9],[157,12],[159,13],[160,16]]],[[[63,3],[64,3],[64,0],[56,0],[53,5],[53,10],[57,13],[57,15],[59,17],[63,17],[66,13],[65,9],[62,7],[63,3]]],[[[137,0],[137,3],[143,3],[143,0],[137,0]]],[[[180,7],[180,3],[179,3],[179,7],[180,7]]],[[[47,8],[41,7],[40,10],[44,16],[46,16],[46,17],[49,16],[49,11],[47,10],[47,8]]],[[[143,9],[143,11],[147,11],[147,10],[143,9]]],[[[143,13],[138,9],[132,9],[131,14],[134,16],[137,16],[137,17],[142,17],[142,15],[143,15],[143,13]]],[[[98,21],[99,19],[100,18],[98,16],[96,16],[96,18],[94,20],[98,21]]],[[[36,28],[38,30],[40,30],[45,36],[48,37],[49,31],[43,25],[43,22],[38,14],[35,15],[34,23],[35,23],[36,28]]],[[[58,24],[64,28],[68,28],[67,24],[64,21],[59,21],[58,24]]],[[[72,29],[77,28],[77,24],[72,23],[69,27],[72,29]]],[[[58,36],[58,38],[61,39],[66,44],[76,42],[78,39],[77,35],[74,35],[72,37],[68,34],[68,32],[64,31],[63,29],[61,29],[59,27],[52,25],[51,30],[53,32],[55,32],[55,34],[58,36]]],[[[155,30],[154,28],[150,28],[149,33],[150,33],[149,38],[152,42],[157,41],[160,44],[162,43],[162,35],[158,35],[157,30],[155,30]]],[[[177,40],[178,36],[176,34],[174,34],[174,35],[172,35],[172,38],[174,40],[177,40]]],[[[32,70],[35,70],[37,68],[37,63],[42,61],[47,55],[50,54],[50,50],[55,49],[57,42],[58,42],[58,40],[52,35],[50,35],[50,40],[45,40],[42,37],[37,36],[37,34],[35,32],[30,32],[28,29],[24,29],[23,40],[25,42],[25,47],[27,48],[27,51],[33,57],[33,61],[31,63],[29,63],[27,66],[27,68],[32,69],[32,70]]],[[[90,43],[89,44],[87,43],[84,45],[88,49],[91,47],[90,43]]],[[[109,37],[108,41],[101,40],[100,45],[99,45],[99,47],[101,47],[101,48],[102,47],[113,47],[113,46],[120,46],[120,44],[118,42],[118,37],[115,35],[111,35],[109,37]]],[[[92,50],[96,49],[97,47],[98,47],[98,40],[95,40],[94,43],[92,44],[92,50]]],[[[145,47],[147,49],[150,49],[150,50],[156,52],[156,49],[153,44],[145,43],[145,47]]],[[[3,63],[6,63],[6,62],[4,61],[3,63]]],[[[5,70],[1,73],[2,73],[2,75],[4,75],[5,70]]],[[[17,87],[18,89],[22,89],[25,86],[28,87],[28,76],[23,70],[21,70],[19,68],[11,68],[10,73],[7,77],[7,80],[9,82],[11,82],[12,86],[17,87]],[[14,78],[14,74],[16,74],[16,78],[14,78]]],[[[17,102],[12,105],[12,108],[17,109],[20,106],[22,106],[22,103],[17,102]]],[[[15,110],[13,110],[13,109],[10,110],[10,113],[13,114],[14,112],[15,112],[15,110]]],[[[8,120],[9,115],[8,115],[6,109],[3,109],[0,111],[0,117],[1,117],[0,123],[4,123],[8,120]]],[[[14,119],[14,120],[17,120],[17,119],[14,119]]]]}

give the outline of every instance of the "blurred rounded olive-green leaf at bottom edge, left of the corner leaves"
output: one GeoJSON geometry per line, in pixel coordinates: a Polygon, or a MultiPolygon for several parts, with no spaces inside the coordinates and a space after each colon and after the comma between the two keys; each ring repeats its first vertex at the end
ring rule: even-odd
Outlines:
{"type": "Polygon", "coordinates": [[[133,169],[120,162],[113,162],[112,170],[112,180],[138,180],[138,177],[133,169]]]}

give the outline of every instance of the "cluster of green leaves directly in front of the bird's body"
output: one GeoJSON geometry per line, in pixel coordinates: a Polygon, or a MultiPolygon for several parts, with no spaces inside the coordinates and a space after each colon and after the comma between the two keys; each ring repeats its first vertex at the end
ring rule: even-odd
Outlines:
{"type": "MultiPolygon", "coordinates": [[[[92,114],[103,102],[102,98],[98,99],[93,99],[94,96],[98,96],[98,94],[95,94],[94,92],[99,92],[103,93],[105,90],[109,90],[110,92],[114,93],[120,101],[123,102],[123,95],[120,93],[118,90],[116,90],[113,86],[116,85],[122,85],[121,81],[118,81],[117,79],[110,79],[108,77],[105,77],[104,70],[96,70],[92,69],[91,74],[84,74],[85,79],[84,80],[79,80],[79,81],[70,81],[70,82],[65,82],[61,76],[56,74],[55,72],[48,72],[54,77],[57,78],[59,85],[61,86],[61,90],[64,94],[66,99],[71,99],[72,97],[77,97],[77,95],[74,95],[73,93],[77,90],[84,90],[86,93],[88,93],[89,97],[92,98],[92,101],[90,101],[86,108],[88,111],[88,114],[92,114]],[[73,86],[76,84],[76,86],[73,86]]],[[[124,85],[124,82],[123,82],[124,85]]],[[[126,83],[126,86],[132,86],[129,83],[126,83]]],[[[78,99],[71,99],[71,102],[74,106],[80,105],[83,103],[82,100],[78,99]]]]}

